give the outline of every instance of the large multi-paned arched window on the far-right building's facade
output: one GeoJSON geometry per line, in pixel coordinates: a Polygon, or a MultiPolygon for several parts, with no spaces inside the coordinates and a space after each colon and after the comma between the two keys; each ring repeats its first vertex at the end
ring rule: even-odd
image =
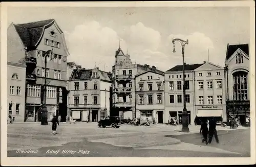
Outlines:
{"type": "Polygon", "coordinates": [[[238,71],[233,74],[234,100],[248,100],[247,73],[238,71]]]}

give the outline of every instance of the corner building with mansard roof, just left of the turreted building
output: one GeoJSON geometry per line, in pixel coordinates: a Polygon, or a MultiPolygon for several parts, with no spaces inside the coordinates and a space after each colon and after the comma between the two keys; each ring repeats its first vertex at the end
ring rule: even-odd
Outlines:
{"type": "Polygon", "coordinates": [[[110,115],[111,73],[78,66],[69,80],[70,115],[77,121],[97,122],[110,115]]]}

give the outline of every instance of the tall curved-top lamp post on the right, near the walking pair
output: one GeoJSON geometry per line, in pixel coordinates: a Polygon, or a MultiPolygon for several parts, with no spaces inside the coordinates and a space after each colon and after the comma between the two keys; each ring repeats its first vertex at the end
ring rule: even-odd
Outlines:
{"type": "Polygon", "coordinates": [[[174,50],[173,52],[175,53],[175,41],[179,41],[181,44],[182,48],[182,62],[183,62],[183,112],[182,112],[182,132],[189,132],[188,128],[188,120],[187,120],[187,109],[186,109],[186,88],[185,88],[185,62],[184,62],[184,50],[185,50],[185,45],[188,44],[188,39],[186,41],[182,39],[173,39],[173,44],[174,44],[174,50]]]}

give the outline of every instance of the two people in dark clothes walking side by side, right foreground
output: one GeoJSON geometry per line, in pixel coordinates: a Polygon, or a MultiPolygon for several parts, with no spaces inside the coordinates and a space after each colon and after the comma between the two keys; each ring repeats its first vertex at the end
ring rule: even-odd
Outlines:
{"type": "Polygon", "coordinates": [[[209,119],[209,129],[205,119],[202,120],[200,134],[203,134],[202,142],[205,141],[206,145],[211,143],[212,137],[215,137],[216,142],[219,143],[219,138],[216,130],[216,120],[215,118],[209,119]],[[209,135],[209,136],[208,136],[209,135]],[[208,138],[208,141],[207,141],[208,138]]]}

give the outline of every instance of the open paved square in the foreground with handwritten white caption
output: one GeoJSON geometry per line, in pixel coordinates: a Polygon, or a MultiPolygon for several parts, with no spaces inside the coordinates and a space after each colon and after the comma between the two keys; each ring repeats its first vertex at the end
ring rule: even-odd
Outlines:
{"type": "Polygon", "coordinates": [[[250,157],[250,128],[217,126],[220,143],[202,143],[200,126],[132,126],[98,128],[97,123],[8,124],[11,157],[250,157]]]}

